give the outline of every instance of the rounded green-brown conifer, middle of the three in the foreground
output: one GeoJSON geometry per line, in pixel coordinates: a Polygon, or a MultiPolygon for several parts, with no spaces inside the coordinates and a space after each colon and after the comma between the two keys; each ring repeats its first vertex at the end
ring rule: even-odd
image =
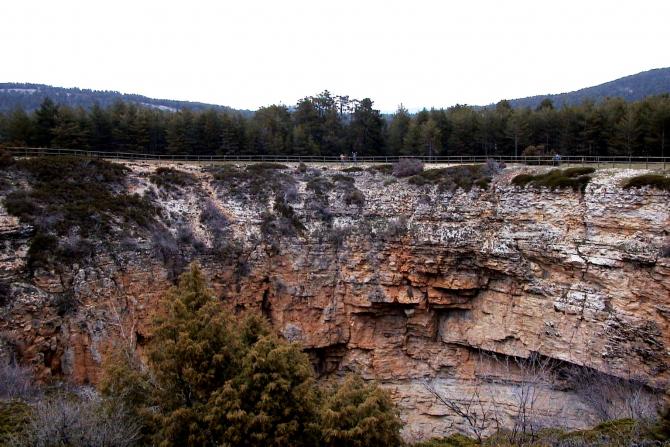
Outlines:
{"type": "Polygon", "coordinates": [[[314,372],[299,346],[274,335],[255,342],[209,412],[217,439],[235,446],[313,446],[318,441],[314,372]]]}

